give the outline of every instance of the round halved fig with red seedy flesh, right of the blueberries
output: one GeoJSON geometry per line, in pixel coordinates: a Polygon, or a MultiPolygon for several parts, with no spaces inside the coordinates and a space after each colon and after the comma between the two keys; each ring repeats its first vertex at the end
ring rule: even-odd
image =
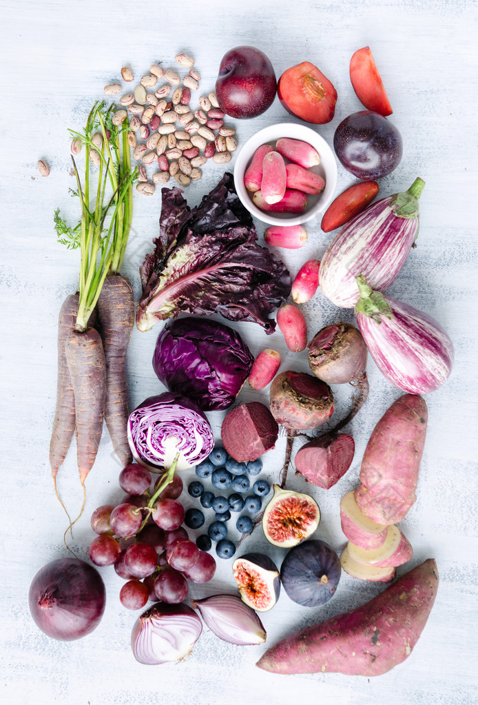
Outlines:
{"type": "Polygon", "coordinates": [[[319,505],[310,495],[274,485],[274,496],[262,517],[267,541],[291,548],[312,536],[319,522],[319,505]]]}

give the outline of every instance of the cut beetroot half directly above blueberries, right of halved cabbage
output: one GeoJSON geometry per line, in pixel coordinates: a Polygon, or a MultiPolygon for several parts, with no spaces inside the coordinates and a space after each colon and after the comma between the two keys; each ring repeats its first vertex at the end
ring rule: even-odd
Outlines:
{"type": "Polygon", "coordinates": [[[278,424],[269,409],[260,402],[240,404],[223,420],[221,438],[231,458],[238,462],[257,460],[274,448],[278,424]]]}

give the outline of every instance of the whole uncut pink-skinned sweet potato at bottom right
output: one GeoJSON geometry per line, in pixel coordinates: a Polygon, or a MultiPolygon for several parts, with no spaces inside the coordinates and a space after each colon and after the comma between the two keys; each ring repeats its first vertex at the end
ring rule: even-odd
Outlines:
{"type": "Polygon", "coordinates": [[[412,653],[438,584],[436,561],[428,558],[361,607],[286,637],[257,666],[283,674],[386,673],[412,653]]]}

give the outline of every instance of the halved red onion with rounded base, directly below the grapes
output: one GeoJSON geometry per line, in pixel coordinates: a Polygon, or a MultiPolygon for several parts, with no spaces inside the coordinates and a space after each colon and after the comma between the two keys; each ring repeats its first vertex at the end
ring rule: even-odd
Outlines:
{"type": "Polygon", "coordinates": [[[202,632],[200,618],[188,605],[159,602],[142,613],[131,633],[136,661],[147,666],[179,661],[202,632]]]}

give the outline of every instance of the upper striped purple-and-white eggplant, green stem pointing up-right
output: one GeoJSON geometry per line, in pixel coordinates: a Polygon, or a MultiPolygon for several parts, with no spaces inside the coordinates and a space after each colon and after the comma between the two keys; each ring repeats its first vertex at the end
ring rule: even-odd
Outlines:
{"type": "Polygon", "coordinates": [[[418,235],[418,200],[424,181],[416,178],[407,191],[382,198],[350,220],[321,259],[319,286],[341,308],[359,299],[355,278],[385,291],[405,264],[418,235]]]}

